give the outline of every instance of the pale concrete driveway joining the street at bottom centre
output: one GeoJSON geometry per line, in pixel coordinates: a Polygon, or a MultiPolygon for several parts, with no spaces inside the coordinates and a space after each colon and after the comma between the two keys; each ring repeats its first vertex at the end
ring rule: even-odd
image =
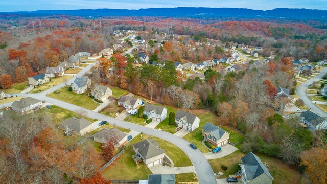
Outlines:
{"type": "Polygon", "coordinates": [[[162,164],[157,164],[149,168],[153,174],[182,174],[182,173],[194,173],[194,166],[188,167],[170,167],[162,164]]]}

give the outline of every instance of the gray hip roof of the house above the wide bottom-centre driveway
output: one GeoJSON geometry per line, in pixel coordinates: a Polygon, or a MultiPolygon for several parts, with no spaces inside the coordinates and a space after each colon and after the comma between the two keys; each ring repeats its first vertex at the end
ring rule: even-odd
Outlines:
{"type": "Polygon", "coordinates": [[[153,138],[133,144],[136,152],[138,152],[138,154],[140,154],[144,159],[149,159],[165,153],[165,151],[158,148],[158,146],[158,142],[153,138]]]}

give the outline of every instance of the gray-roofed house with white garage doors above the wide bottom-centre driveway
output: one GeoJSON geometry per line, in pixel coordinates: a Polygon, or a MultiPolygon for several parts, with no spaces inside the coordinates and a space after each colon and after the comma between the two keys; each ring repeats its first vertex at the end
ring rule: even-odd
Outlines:
{"type": "Polygon", "coordinates": [[[141,159],[147,167],[161,164],[165,157],[165,150],[159,148],[158,142],[153,138],[133,144],[134,159],[141,159]]]}

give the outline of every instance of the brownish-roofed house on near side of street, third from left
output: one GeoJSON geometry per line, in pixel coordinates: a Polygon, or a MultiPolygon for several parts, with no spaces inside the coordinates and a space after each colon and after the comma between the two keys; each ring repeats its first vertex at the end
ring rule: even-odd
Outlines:
{"type": "Polygon", "coordinates": [[[121,147],[127,143],[127,133],[118,128],[103,128],[93,135],[93,139],[101,144],[108,143],[111,140],[116,147],[121,147]]]}

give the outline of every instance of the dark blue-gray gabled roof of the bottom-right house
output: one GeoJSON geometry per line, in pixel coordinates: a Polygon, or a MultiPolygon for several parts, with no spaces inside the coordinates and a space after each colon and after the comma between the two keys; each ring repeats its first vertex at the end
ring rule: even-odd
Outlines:
{"type": "Polygon", "coordinates": [[[266,173],[271,179],[274,179],[264,164],[261,162],[260,158],[253,154],[252,152],[241,158],[242,163],[244,164],[244,169],[246,173],[246,178],[253,180],[256,177],[266,173]]]}

